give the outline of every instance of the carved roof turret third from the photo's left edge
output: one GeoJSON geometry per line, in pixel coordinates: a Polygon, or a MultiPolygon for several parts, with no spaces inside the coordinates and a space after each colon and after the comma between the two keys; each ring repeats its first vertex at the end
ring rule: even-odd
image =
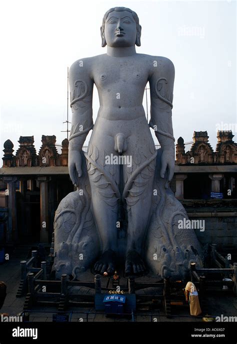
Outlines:
{"type": "Polygon", "coordinates": [[[56,166],[58,165],[58,152],[55,147],[55,135],[42,135],[42,145],[38,152],[39,166],[56,166]]]}

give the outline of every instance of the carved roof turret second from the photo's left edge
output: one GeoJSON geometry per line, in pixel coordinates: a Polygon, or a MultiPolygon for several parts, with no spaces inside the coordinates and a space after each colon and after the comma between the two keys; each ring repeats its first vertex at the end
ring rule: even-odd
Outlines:
{"type": "Polygon", "coordinates": [[[34,147],[33,136],[20,136],[19,137],[19,148],[15,153],[15,163],[16,166],[36,166],[37,157],[36,150],[34,147]]]}

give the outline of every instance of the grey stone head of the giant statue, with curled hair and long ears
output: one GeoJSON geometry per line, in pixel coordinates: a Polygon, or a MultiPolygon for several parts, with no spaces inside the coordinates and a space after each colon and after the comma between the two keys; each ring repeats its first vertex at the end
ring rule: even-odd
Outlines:
{"type": "Polygon", "coordinates": [[[114,7],[103,16],[100,28],[102,47],[140,46],[141,26],[137,14],[125,7],[114,7]]]}

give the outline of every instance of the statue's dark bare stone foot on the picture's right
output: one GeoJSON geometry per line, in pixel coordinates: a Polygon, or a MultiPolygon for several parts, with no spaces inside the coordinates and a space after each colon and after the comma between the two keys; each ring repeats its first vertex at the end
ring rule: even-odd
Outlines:
{"type": "Polygon", "coordinates": [[[141,256],[136,250],[129,250],[126,254],[125,276],[142,275],[146,271],[141,256]]]}

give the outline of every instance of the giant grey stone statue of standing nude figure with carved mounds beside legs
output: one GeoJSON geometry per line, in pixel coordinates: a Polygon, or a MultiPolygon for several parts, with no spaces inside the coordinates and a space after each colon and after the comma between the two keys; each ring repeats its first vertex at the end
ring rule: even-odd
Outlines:
{"type": "Polygon", "coordinates": [[[149,272],[183,278],[191,262],[201,265],[201,248],[194,231],[178,225],[187,215],[169,188],[174,173],[173,64],[136,53],[141,26],[130,9],[108,10],[100,31],[106,53],[80,59],[69,70],[68,166],[77,190],[55,214],[53,269],[56,277],[78,278],[88,268],[111,275],[120,267],[125,276],[149,272]],[[142,106],[147,82],[149,124],[142,106]],[[95,123],[94,85],[100,104],[95,123]]]}

